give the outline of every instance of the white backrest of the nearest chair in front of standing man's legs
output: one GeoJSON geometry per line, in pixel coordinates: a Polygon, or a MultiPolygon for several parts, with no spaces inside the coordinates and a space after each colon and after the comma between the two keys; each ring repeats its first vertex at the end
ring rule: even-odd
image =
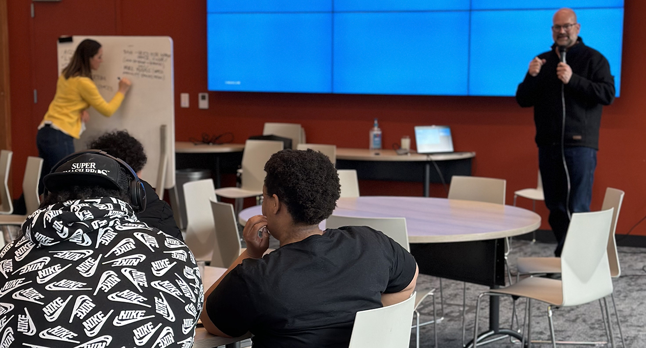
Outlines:
{"type": "Polygon", "coordinates": [[[561,253],[563,306],[612,293],[607,246],[613,210],[572,214],[561,253]]]}

